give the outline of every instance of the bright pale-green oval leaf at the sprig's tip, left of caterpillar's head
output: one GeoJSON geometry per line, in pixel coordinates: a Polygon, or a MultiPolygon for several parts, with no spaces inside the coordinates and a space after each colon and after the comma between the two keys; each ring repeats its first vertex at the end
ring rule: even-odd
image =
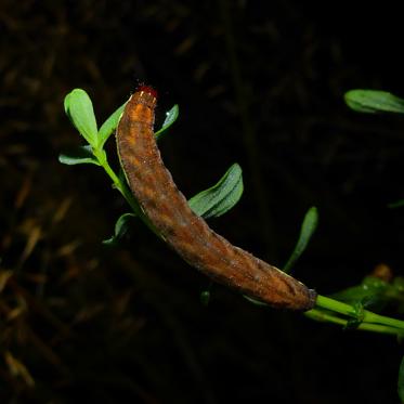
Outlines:
{"type": "Polygon", "coordinates": [[[68,93],[64,101],[67,116],[80,134],[93,146],[96,146],[96,120],[91,100],[87,92],[75,89],[68,93]]]}

